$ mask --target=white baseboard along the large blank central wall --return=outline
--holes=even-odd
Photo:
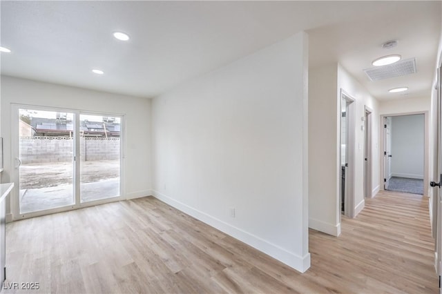
[[[182,202],[178,202],[175,199],[172,199],[171,197],[168,197],[160,192],[153,190],[153,196],[157,199],[160,199],[162,202],[169,204],[170,206],[173,206],[178,210],[181,210],[182,212],[195,217],[196,219],[199,219],[201,222],[209,224],[209,226],[213,226],[223,233],[226,233],[227,235],[230,235],[252,246],[253,248],[258,249],[259,251],[262,251],[263,253],[270,255],[275,259],[278,259],[280,262],[283,262],[288,266],[296,269],[296,271],[304,273],[310,267],[310,253],[307,253],[305,256],[301,257],[285,250],[284,248],[280,248],[275,244],[271,244],[265,239],[243,231],[240,228],[236,228],[231,224],[227,224],[220,219],[203,213],[202,211],[192,208],[191,206],[188,206]]]

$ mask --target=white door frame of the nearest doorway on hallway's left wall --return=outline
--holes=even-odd
[[[355,179],[355,162],[354,159],[356,158],[356,99],[352,97],[352,95],[349,95],[345,90],[342,88],[340,89],[340,99],[339,99],[339,142],[338,142],[338,150],[339,150],[339,164],[338,164],[338,170],[337,174],[339,175],[339,212],[341,211],[340,205],[342,203],[342,185],[341,185],[341,139],[342,139],[342,126],[341,126],[341,111],[342,111],[342,101],[345,99],[347,102],[349,102],[348,105],[348,113],[346,113],[346,123],[347,123],[347,146],[345,146],[345,152],[347,156],[347,170],[345,171],[345,203],[344,203],[344,215],[346,217],[353,218],[355,215],[354,211],[354,193],[355,193],[355,186],[354,186],[354,179]],[[339,217],[342,215],[342,213],[339,213]],[[339,219],[340,222],[340,219]]]

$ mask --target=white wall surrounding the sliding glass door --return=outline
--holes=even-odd
[[[29,104],[109,112],[126,116],[126,197],[151,195],[151,100],[1,76],[1,135],[5,170],[10,181],[11,104]],[[17,187],[11,193],[17,197]],[[10,206],[9,203],[7,203]],[[7,208],[8,213],[10,207]]]

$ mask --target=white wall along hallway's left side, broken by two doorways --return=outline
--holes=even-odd
[[[355,202],[357,215],[364,207],[364,132],[361,129],[367,106],[372,112],[372,190],[378,182],[378,101],[337,63],[309,69],[309,226],[340,234],[340,90],[355,99]]]

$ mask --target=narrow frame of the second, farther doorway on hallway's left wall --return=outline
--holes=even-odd
[[[373,170],[372,170],[372,108],[364,106],[364,197],[373,196]],[[367,160],[365,160],[367,159]]]

